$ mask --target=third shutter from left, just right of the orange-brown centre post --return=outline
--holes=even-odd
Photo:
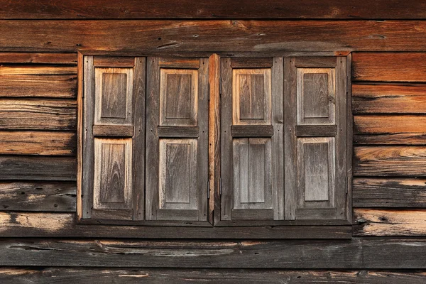
[[[224,58],[221,74],[221,219],[283,219],[283,58]]]

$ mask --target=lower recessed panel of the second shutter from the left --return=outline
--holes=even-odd
[[[160,140],[159,209],[197,209],[197,139]]]

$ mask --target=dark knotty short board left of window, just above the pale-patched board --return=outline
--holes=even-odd
[[[0,210],[75,212],[76,190],[75,182],[0,182]]]

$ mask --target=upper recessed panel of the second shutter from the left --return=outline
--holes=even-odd
[[[198,70],[161,69],[160,126],[196,126]]]

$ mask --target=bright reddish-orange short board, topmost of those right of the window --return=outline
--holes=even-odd
[[[425,60],[424,53],[354,53],[352,80],[426,82]]]

